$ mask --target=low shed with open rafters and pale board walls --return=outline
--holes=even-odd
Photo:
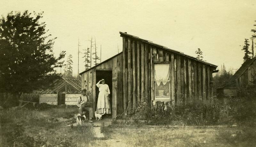
[[[60,78],[41,92],[39,103],[76,105],[81,96],[81,83],[77,79]]]

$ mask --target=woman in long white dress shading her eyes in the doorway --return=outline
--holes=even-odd
[[[100,91],[98,96],[96,112],[98,114],[103,114],[106,111],[105,114],[111,114],[110,102],[109,102],[110,90],[108,88],[108,85],[105,84],[104,79],[102,79],[96,84],[96,86],[99,88],[99,91]]]

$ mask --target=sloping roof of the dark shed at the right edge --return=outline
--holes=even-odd
[[[224,85],[221,85],[217,89],[224,88],[230,84],[233,84],[236,82],[236,79],[240,78],[242,74],[248,69],[248,67],[253,63],[253,61],[256,59],[256,57],[252,58],[251,60],[246,60],[242,66],[236,71],[236,73],[228,80],[228,82]]]

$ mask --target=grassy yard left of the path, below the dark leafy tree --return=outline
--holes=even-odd
[[[86,146],[95,140],[91,125],[67,127],[71,122],[54,121],[63,117],[75,122],[76,106],[37,108],[0,110],[0,146]]]

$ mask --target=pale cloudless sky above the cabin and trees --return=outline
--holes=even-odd
[[[251,29],[256,28],[255,0],[0,0],[0,3],[0,15],[4,17],[11,11],[44,11],[41,21],[57,37],[54,55],[58,56],[60,51],[66,51],[66,56],[71,54],[74,75],[78,73],[78,39],[80,51],[91,46],[88,41],[91,37],[95,39],[98,53],[101,45],[101,61],[104,61],[122,51],[119,31],[194,57],[200,48],[207,62],[219,67],[224,63],[226,68],[235,70],[243,63],[244,39],[249,39]],[[79,73],[85,69],[81,57],[80,53]]]

